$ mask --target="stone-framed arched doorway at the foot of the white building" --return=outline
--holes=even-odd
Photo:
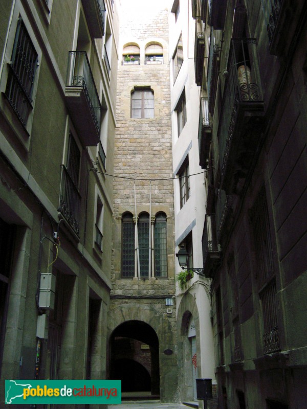
[[[198,355],[201,351],[200,345],[200,316],[194,297],[185,293],[178,308],[177,334],[178,334],[178,368],[179,368],[179,387],[181,400],[193,400],[193,385],[191,383],[192,372],[189,366],[190,342],[188,339],[188,324],[193,317],[196,327],[196,350]],[[198,376],[202,373],[201,359],[198,358]],[[190,373],[191,372],[191,373]]]

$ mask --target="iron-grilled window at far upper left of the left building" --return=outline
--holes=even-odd
[[[38,66],[38,54],[19,16],[14,40],[5,95],[26,127],[33,109],[33,88]]]

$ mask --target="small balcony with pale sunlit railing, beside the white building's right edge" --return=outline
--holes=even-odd
[[[211,118],[209,117],[208,98],[201,98],[200,120],[199,120],[199,151],[200,166],[202,169],[207,168],[209,150],[211,143]]]

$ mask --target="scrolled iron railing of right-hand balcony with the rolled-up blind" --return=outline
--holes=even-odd
[[[257,79],[256,39],[233,38],[229,53],[228,67],[221,106],[221,121],[218,125],[221,173],[225,172],[229,150],[236,126],[240,106],[246,109],[263,101]]]

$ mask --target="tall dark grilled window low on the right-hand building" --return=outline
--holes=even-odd
[[[276,307],[276,282],[269,212],[265,188],[262,188],[251,210],[253,241],[259,299],[262,309],[264,353],[279,350]]]

